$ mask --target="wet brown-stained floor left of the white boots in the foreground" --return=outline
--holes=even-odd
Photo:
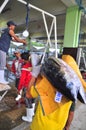
[[[11,130],[20,125],[23,122],[21,117],[25,114],[25,104],[16,103],[17,90],[10,86],[11,90],[0,101],[0,130]]]

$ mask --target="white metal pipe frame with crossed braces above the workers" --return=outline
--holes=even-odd
[[[19,2],[21,2],[23,4],[25,4],[25,5],[27,4],[27,2],[24,1],[24,0],[17,0],[17,1],[19,1]],[[52,15],[52,14],[44,11],[44,10],[42,10],[42,9],[40,9],[40,8],[32,5],[32,4],[28,4],[28,6],[30,8],[33,8],[33,9],[35,9],[35,10],[37,10],[37,11],[39,11],[39,12],[42,13],[42,17],[43,17],[43,21],[44,21],[44,26],[45,26],[45,30],[46,30],[46,34],[47,34],[47,44],[46,44],[46,48],[45,48],[45,52],[44,52],[44,56],[43,57],[45,57],[45,54],[46,54],[46,51],[47,51],[47,46],[49,45],[51,47],[51,39],[50,39],[50,37],[51,37],[51,33],[52,33],[53,29],[54,29],[54,40],[55,40],[55,57],[57,57],[57,27],[56,27],[56,17],[54,15]],[[46,15],[52,18],[52,24],[51,24],[50,30],[49,30],[48,25],[47,25],[47,21],[46,21],[46,17],[45,17]]]

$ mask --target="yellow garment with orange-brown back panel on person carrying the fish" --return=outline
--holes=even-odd
[[[35,89],[31,88],[31,95],[36,97],[38,94],[40,98],[31,130],[63,130],[72,102],[63,96],[61,103],[56,103],[55,93],[55,88],[45,77],[36,84]]]

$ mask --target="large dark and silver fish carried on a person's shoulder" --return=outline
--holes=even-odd
[[[72,100],[77,98],[86,103],[82,83],[75,71],[59,58],[48,58],[42,66],[42,72],[50,83],[63,95]]]

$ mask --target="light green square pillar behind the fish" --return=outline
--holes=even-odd
[[[81,10],[79,10],[78,6],[67,9],[63,47],[78,47],[80,20]]]

